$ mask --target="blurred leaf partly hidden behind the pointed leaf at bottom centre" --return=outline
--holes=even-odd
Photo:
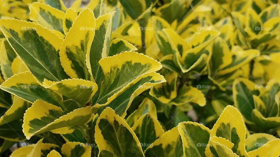
[[[127,117],[127,124],[132,127],[135,124],[135,122],[146,113],[149,113],[151,116],[157,119],[157,110],[155,104],[148,98],[145,98],[139,105],[137,110],[135,110]]]

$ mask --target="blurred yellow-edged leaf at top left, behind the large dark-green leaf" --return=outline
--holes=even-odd
[[[65,13],[43,3],[32,3],[29,6],[30,19],[46,28],[63,33],[63,18]]]

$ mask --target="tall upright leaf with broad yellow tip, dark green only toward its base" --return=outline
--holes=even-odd
[[[91,21],[91,22],[88,22]],[[84,9],[73,23],[60,47],[60,62],[72,79],[90,80],[85,63],[90,42],[95,34],[95,17],[90,9]]]

